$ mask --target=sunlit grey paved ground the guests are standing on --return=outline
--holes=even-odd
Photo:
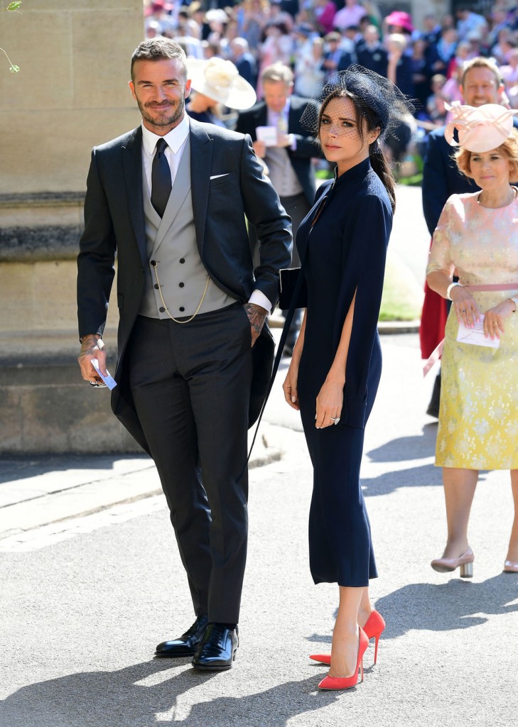
[[[426,237],[418,245],[426,258]],[[445,539],[436,424],[423,413],[432,380],[421,377],[417,334],[382,344],[362,484],[380,573],[371,595],[387,630],[376,667],[367,652],[364,683],[319,693],[325,669],[307,658],[330,646],[337,593],[308,572],[311,467],[298,414],[282,401],[283,366],[250,475],[242,644],[231,672],[152,659],[155,644],[193,617],[148,459],[0,460],[0,727],[516,723],[518,576],[501,574],[509,475],[482,475],[474,578],[432,571]]]

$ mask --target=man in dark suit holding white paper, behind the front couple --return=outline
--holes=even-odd
[[[264,69],[261,75],[264,100],[239,113],[236,130],[250,134],[255,153],[263,158],[268,175],[274,185],[281,204],[292,218],[293,238],[298,225],[306,217],[314,201],[316,185],[311,158],[321,156],[314,137],[300,124],[307,98],[292,95],[293,73],[282,63],[274,63]],[[266,145],[258,138],[259,126],[276,127],[276,144]],[[252,250],[257,248],[257,235],[250,228]],[[256,254],[256,253],[255,253]],[[292,264],[300,265],[294,249]],[[284,352],[291,356],[297,337],[298,321],[290,328]]]

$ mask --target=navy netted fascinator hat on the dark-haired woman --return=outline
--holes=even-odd
[[[345,94],[343,93],[345,92]],[[373,117],[374,125],[380,129],[378,141],[383,142],[387,134],[402,124],[405,116],[415,112],[415,105],[399,88],[362,65],[350,65],[346,71],[339,71],[333,81],[325,82],[306,106],[300,123],[314,136],[319,134],[319,115],[326,100],[347,95],[367,116]]]

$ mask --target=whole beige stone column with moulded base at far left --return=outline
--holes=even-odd
[[[140,121],[127,81],[143,1],[31,0],[22,12],[0,16],[20,66],[0,59],[0,452],[136,451],[108,392],[79,375],[75,258],[92,146]]]

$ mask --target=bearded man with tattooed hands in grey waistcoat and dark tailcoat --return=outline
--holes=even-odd
[[[132,56],[141,126],[97,147],[78,257],[83,378],[105,372],[102,335],[117,254],[119,362],[112,408],[153,457],[196,621],[157,656],[232,666],[247,548],[247,425],[271,371],[264,325],[290,261],[290,220],[249,138],[188,119],[181,47]],[[252,267],[245,216],[258,230]]]

